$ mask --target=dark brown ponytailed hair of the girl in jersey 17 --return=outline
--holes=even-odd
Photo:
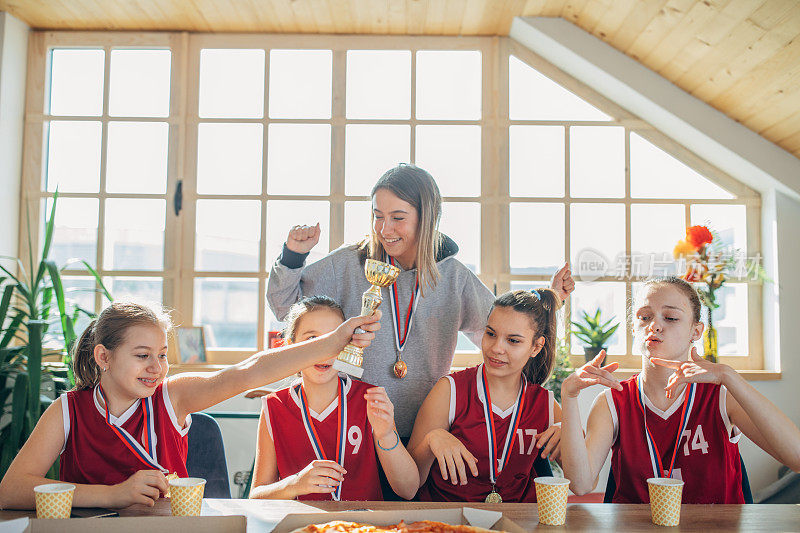
[[[536,357],[529,358],[522,368],[525,379],[537,385],[543,384],[553,372],[556,362],[556,311],[561,307],[561,299],[552,289],[516,290],[498,296],[489,311],[490,315],[496,307],[509,307],[530,318],[536,331],[534,343],[539,337],[544,337],[542,349]]]

